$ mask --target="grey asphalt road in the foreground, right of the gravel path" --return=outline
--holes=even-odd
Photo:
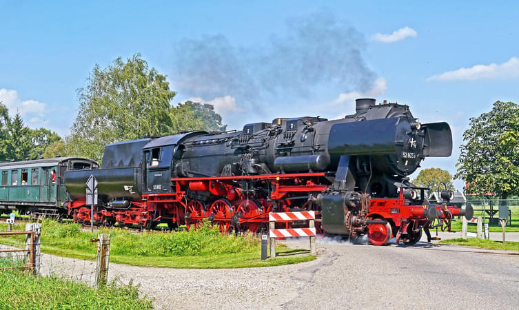
[[[431,245],[318,246],[320,264],[290,277],[303,283],[282,308],[517,309],[519,256]],[[305,298],[306,296],[306,298]],[[314,296],[316,298],[307,298]]]

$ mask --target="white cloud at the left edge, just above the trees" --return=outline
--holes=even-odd
[[[20,113],[23,118],[30,117],[29,123],[40,123],[40,118],[45,116],[45,103],[35,100],[23,101],[16,90],[0,88],[0,101],[8,107],[10,114]]]

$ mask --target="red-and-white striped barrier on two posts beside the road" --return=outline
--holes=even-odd
[[[315,219],[315,211],[269,213],[270,258],[276,257],[276,238],[289,237],[309,237],[310,252],[313,255],[316,255],[317,249]],[[276,222],[287,223],[294,220],[308,220],[308,227],[276,229]]]

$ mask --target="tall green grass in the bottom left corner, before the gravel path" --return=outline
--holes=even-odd
[[[17,265],[0,260],[1,267]],[[0,271],[1,309],[153,309],[152,300],[139,298],[138,287],[115,285],[95,290],[56,276],[35,277],[28,271]]]

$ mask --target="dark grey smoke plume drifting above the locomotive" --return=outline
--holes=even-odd
[[[365,63],[365,38],[332,12],[286,21],[283,34],[236,47],[223,35],[181,39],[174,50],[172,87],[184,96],[232,96],[239,107],[261,107],[320,96],[319,90],[366,92],[376,74]]]

